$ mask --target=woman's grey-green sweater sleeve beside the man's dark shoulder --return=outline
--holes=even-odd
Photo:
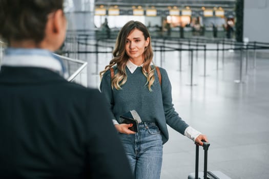
[[[115,120],[116,117],[112,112],[113,107],[114,107],[114,98],[113,98],[113,90],[111,88],[110,70],[108,70],[102,77],[102,80],[100,83],[100,91],[101,91],[101,94],[105,96],[107,100],[107,105],[110,107],[112,120]]]

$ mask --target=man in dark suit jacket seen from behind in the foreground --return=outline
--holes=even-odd
[[[97,89],[68,82],[53,56],[63,0],[0,0],[0,178],[132,178]]]

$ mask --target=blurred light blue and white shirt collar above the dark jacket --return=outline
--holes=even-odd
[[[2,61],[3,66],[30,66],[46,68],[68,77],[64,62],[52,52],[44,49],[8,48]]]

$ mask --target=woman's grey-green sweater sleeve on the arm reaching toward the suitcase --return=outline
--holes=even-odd
[[[162,92],[162,103],[163,110],[165,115],[166,123],[184,135],[185,129],[189,126],[185,121],[183,121],[178,113],[175,111],[174,104],[172,103],[172,86],[167,74],[167,71],[160,68],[162,83],[161,83],[161,92]]]

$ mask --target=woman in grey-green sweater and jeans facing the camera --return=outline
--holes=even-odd
[[[153,51],[146,26],[133,20],[123,26],[113,55],[110,64],[100,72],[100,90],[110,103],[114,125],[135,177],[159,178],[162,145],[168,141],[167,124],[199,145],[208,140],[176,113],[168,74],[162,68],[160,84],[152,65]],[[130,110],[135,110],[142,120],[138,132],[129,129],[132,124],[119,124],[119,116]]]

